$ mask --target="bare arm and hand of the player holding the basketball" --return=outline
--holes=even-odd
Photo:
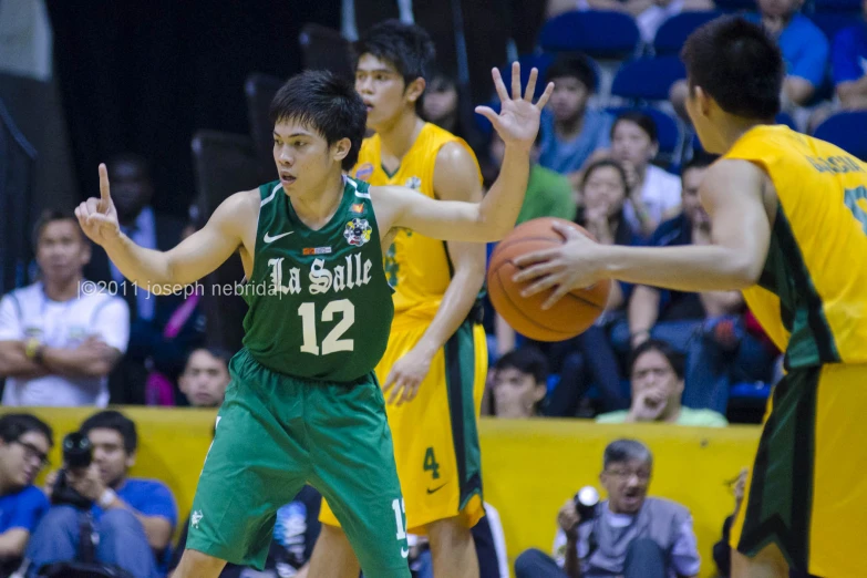
[[[708,246],[622,247],[599,245],[558,227],[567,242],[516,259],[517,281],[535,280],[533,295],[557,287],[548,303],[602,278],[679,291],[735,291],[758,280],[771,242],[763,203],[765,174],[745,161],[720,161],[708,171],[700,197],[711,216]]]

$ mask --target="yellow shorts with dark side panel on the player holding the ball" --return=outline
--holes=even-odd
[[[768,404],[731,546],[773,544],[823,578],[867,576],[867,365],[793,370]]]

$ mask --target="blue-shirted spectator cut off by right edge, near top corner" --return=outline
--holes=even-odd
[[[834,39],[832,66],[843,109],[867,110],[867,0],[864,20],[840,30]]]

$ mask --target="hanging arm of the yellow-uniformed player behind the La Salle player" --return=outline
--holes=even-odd
[[[458,143],[448,143],[436,155],[434,192],[440,199],[478,203],[482,184],[473,156]],[[394,390],[389,403],[411,401],[430,371],[431,360],[461,323],[485,282],[485,245],[447,242],[454,272],[431,324],[415,347],[399,360],[389,373],[383,392]]]

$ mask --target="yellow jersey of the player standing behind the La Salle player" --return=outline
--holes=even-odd
[[[395,173],[389,174],[382,166],[381,141],[376,134],[362,142],[358,163],[350,171],[350,176],[372,186],[410,187],[434,198],[436,155],[446,143],[461,144],[476,161],[473,149],[462,138],[425,123]],[[478,161],[476,169],[481,183]],[[445,242],[402,229],[396,233],[383,260],[389,283],[394,289],[395,322],[427,322],[433,319],[452,280],[452,261]]]

